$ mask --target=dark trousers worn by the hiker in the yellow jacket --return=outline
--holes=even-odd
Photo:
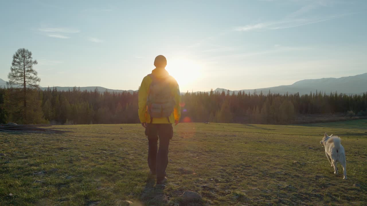
[[[148,136],[148,165],[156,172],[157,180],[166,176],[168,164],[168,145],[173,136],[172,124],[148,124],[145,129]],[[159,140],[159,149],[157,143]]]

